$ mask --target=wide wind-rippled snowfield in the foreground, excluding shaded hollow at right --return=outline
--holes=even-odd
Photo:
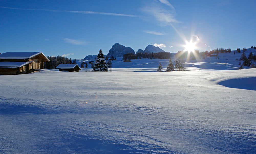
[[[218,84],[255,74],[2,75],[0,153],[255,153],[255,91]]]

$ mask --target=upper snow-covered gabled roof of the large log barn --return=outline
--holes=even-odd
[[[39,54],[42,54],[45,59],[50,61],[42,52],[6,52],[0,54],[0,59],[30,59]]]

